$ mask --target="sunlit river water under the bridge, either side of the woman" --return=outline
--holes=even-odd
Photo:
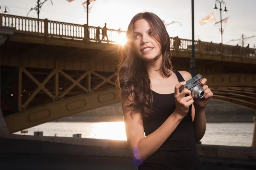
[[[126,140],[124,122],[47,122],[31,127],[25,135],[43,131],[44,136],[72,137],[80,133],[82,138]],[[14,134],[21,134],[20,131]],[[23,134],[22,134],[23,135]],[[207,123],[202,144],[250,146],[253,123]]]

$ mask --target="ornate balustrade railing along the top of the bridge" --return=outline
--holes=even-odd
[[[17,33],[45,37],[68,38],[91,42],[119,43],[126,41],[126,31],[93,27],[73,23],[63,23],[48,19],[36,19],[9,14],[0,14],[0,26],[15,27]],[[170,37],[170,49],[175,52],[191,52],[192,40]],[[256,59],[256,49],[240,46],[195,41],[195,52],[210,55],[224,55]]]

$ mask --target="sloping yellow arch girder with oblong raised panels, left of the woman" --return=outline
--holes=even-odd
[[[117,88],[109,88],[20,111],[6,116],[5,121],[9,132],[14,133],[65,116],[118,102],[120,102],[119,91]]]

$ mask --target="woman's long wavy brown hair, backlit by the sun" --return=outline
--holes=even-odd
[[[151,12],[139,13],[135,15],[126,33],[127,43],[119,51],[119,63],[117,71],[116,85],[121,90],[120,98],[128,97],[131,102],[125,108],[134,107],[132,111],[140,112],[143,117],[152,113],[153,96],[151,94],[151,82],[144,61],[137,57],[132,50],[133,27],[137,20],[145,19],[154,30],[154,38],[161,44],[160,53],[154,58],[159,59],[162,55],[162,69],[165,77],[171,76],[172,70],[170,54],[170,37],[166,31],[163,21]],[[132,97],[133,101],[129,98]],[[131,112],[132,112],[131,111]]]

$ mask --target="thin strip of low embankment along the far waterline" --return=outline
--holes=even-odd
[[[88,116],[88,117],[66,117],[61,118],[52,122],[123,122],[122,116]],[[207,117],[207,123],[228,123],[228,122],[239,122],[239,123],[253,123],[253,117],[234,117],[234,116],[220,116],[220,117]]]

